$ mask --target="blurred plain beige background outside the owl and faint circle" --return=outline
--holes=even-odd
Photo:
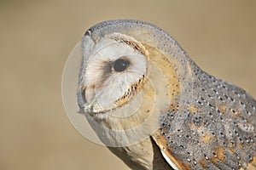
[[[102,20],[154,23],[203,70],[256,96],[255,8],[253,0],[1,0],[0,169],[128,169],[72,127],[61,100],[68,54]]]

